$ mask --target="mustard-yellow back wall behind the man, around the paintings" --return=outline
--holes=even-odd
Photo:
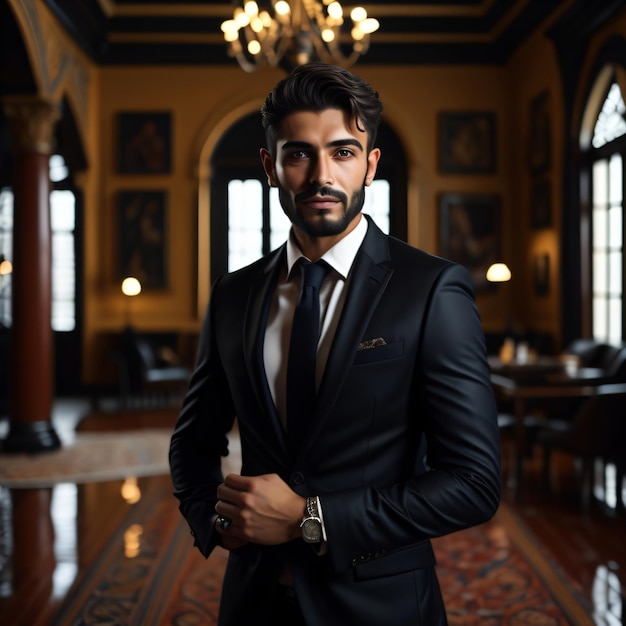
[[[34,4],[45,14],[41,2]],[[624,32],[624,20],[611,24],[596,40],[620,27]],[[441,193],[501,196],[502,257],[511,266],[513,280],[494,293],[478,297],[485,329],[494,332],[502,331],[513,320],[527,330],[558,336],[561,320],[559,150],[565,129],[560,113],[562,94],[556,55],[552,43],[542,34],[550,23],[549,20],[543,24],[506,67],[357,65],[353,68],[379,91],[386,121],[404,143],[408,157],[410,243],[438,253]],[[103,337],[115,334],[126,323],[128,305],[117,282],[116,194],[123,190],[163,189],[169,197],[166,245],[169,286],[162,292],[146,292],[133,300],[133,324],[143,330],[196,332],[209,295],[207,180],[211,152],[231,124],[259,109],[283,73],[269,69],[247,74],[236,66],[95,67],[75,51],[60,31],[54,32],[54,25],[46,27],[52,29],[53,39],[63,42],[70,56],[80,60],[88,83],[88,100],[81,117],[85,124],[81,130],[90,169],[79,181],[85,192],[84,381],[105,382],[114,376],[114,371],[107,364],[109,353]],[[36,57],[33,62],[37,62]],[[550,97],[552,161],[547,174],[552,183],[553,225],[531,230],[532,177],[527,165],[529,109],[531,100],[543,90],[548,90]],[[171,111],[173,117],[171,173],[141,176],[117,173],[117,113],[162,110]],[[495,174],[438,172],[437,116],[442,110],[496,114]],[[551,288],[546,296],[536,295],[533,289],[533,260],[539,253],[548,253],[551,262]],[[202,281],[199,291],[198,276]]]

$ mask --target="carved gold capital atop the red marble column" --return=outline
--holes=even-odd
[[[36,96],[5,96],[0,104],[17,154],[52,154],[54,128],[61,118],[57,105]]]

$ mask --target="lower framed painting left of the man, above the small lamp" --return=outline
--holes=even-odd
[[[120,191],[119,279],[134,276],[142,289],[164,289],[166,273],[165,191]]]

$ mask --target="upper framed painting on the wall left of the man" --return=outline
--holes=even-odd
[[[171,126],[170,113],[120,113],[118,172],[168,174],[171,170]]]

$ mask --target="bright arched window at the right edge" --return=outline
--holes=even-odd
[[[626,105],[610,81],[593,128],[587,157],[591,171],[591,331],[595,339],[624,340],[624,182]]]

